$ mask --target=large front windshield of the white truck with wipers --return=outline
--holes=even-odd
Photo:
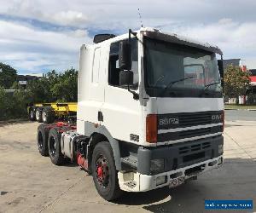
[[[149,95],[221,95],[216,55],[176,43],[145,38],[145,76]]]

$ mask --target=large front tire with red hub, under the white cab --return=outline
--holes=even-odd
[[[96,190],[103,199],[110,201],[121,196],[112,148],[107,141],[96,145],[92,153],[91,171]]]

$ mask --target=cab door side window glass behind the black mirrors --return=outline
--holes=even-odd
[[[131,71],[133,72],[133,89],[138,86],[138,62],[137,62],[137,40],[131,39]],[[119,42],[111,43],[108,65],[108,83],[109,85],[119,87]]]

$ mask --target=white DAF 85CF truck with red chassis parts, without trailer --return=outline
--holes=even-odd
[[[82,45],[76,124],[38,126],[53,164],[77,162],[106,200],[177,187],[223,164],[222,51],[141,28]]]

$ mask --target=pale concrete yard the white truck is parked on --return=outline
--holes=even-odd
[[[171,190],[125,193],[115,203],[103,200],[92,177],[76,164],[55,166],[40,156],[37,127],[0,124],[0,212],[198,213],[207,212],[205,199],[253,199],[256,204],[256,122],[226,122],[219,170]]]

